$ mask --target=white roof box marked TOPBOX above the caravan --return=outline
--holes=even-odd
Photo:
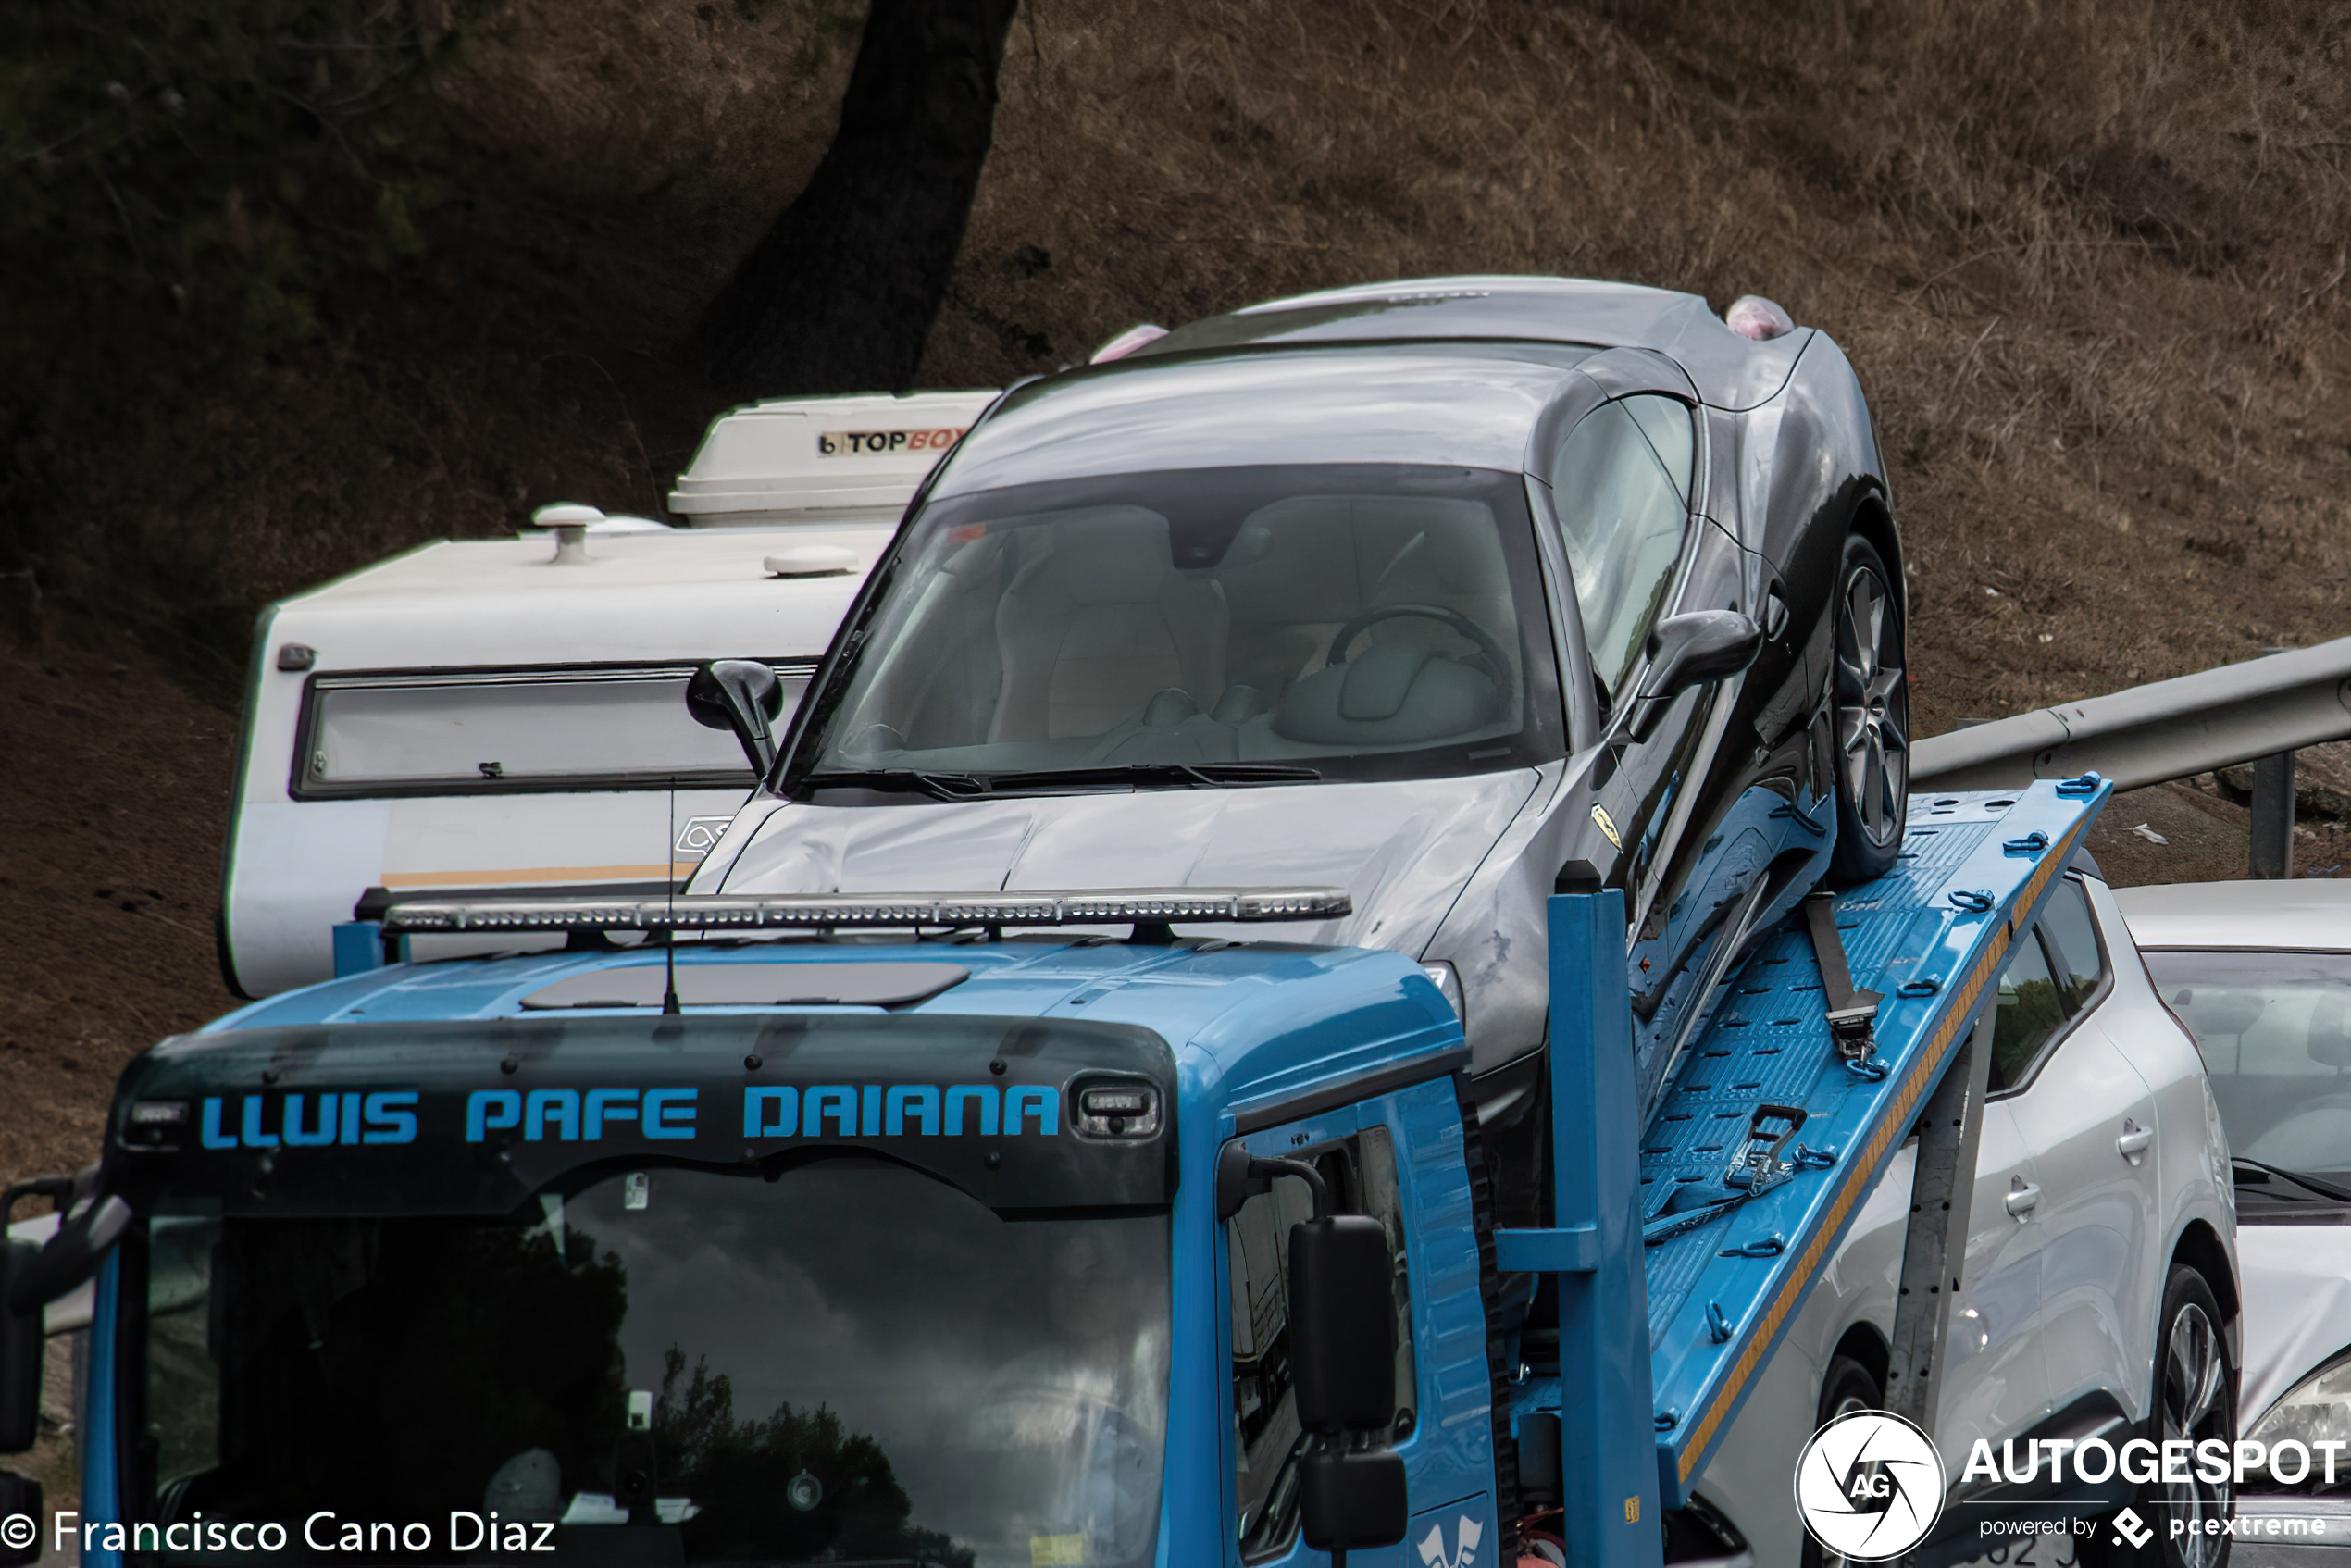
[[[790,397],[722,414],[670,510],[679,522],[898,522],[994,393]]]

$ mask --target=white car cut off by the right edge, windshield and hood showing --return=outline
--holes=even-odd
[[[2203,1044],[2236,1152],[2245,1436],[2351,1439],[2351,882],[2118,900],[2163,1001]],[[2335,1486],[2271,1476],[2259,1490],[2255,1512],[2351,1512],[2351,1465]]]

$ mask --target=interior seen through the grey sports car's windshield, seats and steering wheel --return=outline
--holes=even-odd
[[[877,630],[825,766],[1197,764],[1512,736],[1542,618],[1505,527],[1523,531],[1472,498],[1307,491],[1223,529],[1145,505],[945,529]]]

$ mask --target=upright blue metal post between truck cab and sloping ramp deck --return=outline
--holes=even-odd
[[[1641,1105],[1625,992],[1625,893],[1552,898],[1554,1225],[1592,1227],[1559,1274],[1561,1530],[1578,1568],[1657,1568],[1657,1434],[1641,1262]]]

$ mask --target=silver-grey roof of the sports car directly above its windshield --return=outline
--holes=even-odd
[[[1037,480],[1260,463],[1519,473],[1589,350],[1408,343],[1119,360],[1016,388],[938,470],[938,496]]]

